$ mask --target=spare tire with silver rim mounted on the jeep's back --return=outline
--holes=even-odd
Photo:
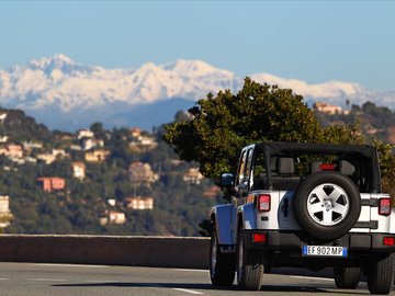
[[[313,238],[337,239],[358,221],[361,197],[350,178],[321,171],[300,184],[293,198],[293,210],[301,228]]]

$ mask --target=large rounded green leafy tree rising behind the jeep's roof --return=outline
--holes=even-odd
[[[323,128],[311,109],[290,89],[245,79],[233,94],[208,94],[189,110],[191,119],[166,126],[163,139],[182,160],[199,161],[201,172],[215,179],[235,171],[240,148],[256,141],[320,141]]]

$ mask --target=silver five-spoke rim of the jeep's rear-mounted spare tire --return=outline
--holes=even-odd
[[[349,209],[350,198],[337,184],[319,184],[308,194],[307,212],[318,225],[337,225],[345,220]]]

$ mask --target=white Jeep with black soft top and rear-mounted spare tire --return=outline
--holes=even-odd
[[[269,143],[242,149],[230,204],[211,210],[210,274],[258,291],[271,267],[334,269],[339,288],[365,274],[372,294],[388,294],[395,272],[395,213],[382,193],[372,146]]]

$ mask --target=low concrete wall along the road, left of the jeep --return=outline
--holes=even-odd
[[[208,249],[207,238],[0,235],[1,262],[207,269]]]

